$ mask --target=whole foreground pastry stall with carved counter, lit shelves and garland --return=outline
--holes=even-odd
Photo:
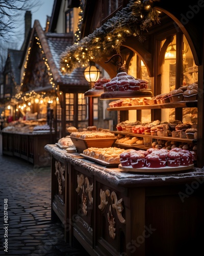
[[[52,158],[52,219],[63,223],[67,242],[78,240],[91,255],[198,254],[203,4],[80,3],[79,40],[61,54],[61,71],[90,61],[103,67],[110,81],[99,98],[117,122],[113,130],[93,125],[72,132],[77,152],[45,146]]]

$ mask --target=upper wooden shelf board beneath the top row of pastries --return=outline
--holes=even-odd
[[[108,108],[108,111],[124,111],[124,110],[149,110],[149,109],[174,109],[174,108],[196,108],[197,100],[169,102],[154,105],[136,105],[136,106],[116,106]]]

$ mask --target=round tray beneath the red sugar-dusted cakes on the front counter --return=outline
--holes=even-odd
[[[171,167],[171,166],[165,166],[162,168],[149,168],[149,167],[142,167],[142,168],[133,168],[122,166],[121,164],[118,165],[118,168],[121,170],[125,170],[126,172],[134,172],[134,173],[150,173],[150,174],[157,174],[157,173],[176,173],[176,172],[182,172],[182,170],[190,170],[193,169],[194,164],[190,164],[187,166],[177,166],[177,167]]]

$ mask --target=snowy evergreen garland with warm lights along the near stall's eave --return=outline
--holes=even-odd
[[[89,61],[96,61],[113,50],[120,54],[127,36],[135,36],[143,42],[146,38],[142,32],[159,22],[159,12],[151,8],[148,1],[131,0],[92,34],[67,47],[60,56],[61,72],[71,73],[76,68],[88,66]]]

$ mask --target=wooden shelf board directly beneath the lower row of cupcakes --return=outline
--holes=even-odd
[[[158,139],[158,140],[170,140],[170,141],[179,141],[185,143],[196,143],[194,139],[186,139],[186,138],[177,138],[177,137],[166,137],[166,136],[158,136],[158,135],[147,135],[147,134],[139,134],[139,133],[126,133],[126,132],[119,132],[119,131],[111,131],[114,134],[122,134],[122,135],[129,135],[135,137],[143,137],[143,138],[151,138],[151,139]],[[139,144],[138,144],[139,147]]]

